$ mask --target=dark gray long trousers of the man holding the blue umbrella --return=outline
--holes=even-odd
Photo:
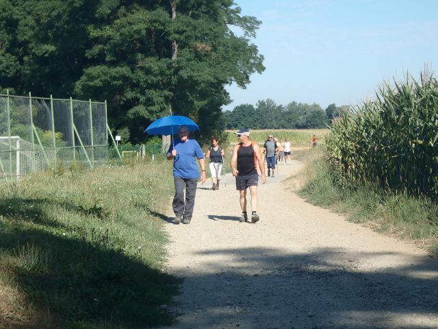
[[[192,219],[194,197],[196,195],[196,186],[198,185],[198,179],[173,176],[173,182],[175,183],[175,196],[173,197],[172,202],[173,212],[175,213],[175,215],[183,215],[183,218],[185,219]]]

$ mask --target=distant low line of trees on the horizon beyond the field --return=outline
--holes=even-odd
[[[350,106],[336,106],[335,103],[322,110],[316,103],[297,103],[287,106],[276,104],[272,99],[258,101],[255,106],[242,104],[232,111],[224,112],[225,127],[237,129],[313,129],[324,128],[341,112],[349,112]]]

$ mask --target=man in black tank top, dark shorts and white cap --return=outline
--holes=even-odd
[[[259,175],[257,173],[257,163],[261,172],[261,182],[266,183],[265,166],[261,157],[260,147],[249,139],[249,130],[241,128],[235,132],[239,143],[233,149],[231,157],[231,171],[235,176],[235,186],[240,193],[240,208],[242,208],[242,217],[240,222],[248,221],[246,212],[246,188],[249,188],[251,194],[251,223],[259,221],[257,215],[257,185],[259,184]],[[237,166],[237,167],[236,167]]]

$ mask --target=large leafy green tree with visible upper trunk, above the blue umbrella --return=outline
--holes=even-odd
[[[77,92],[96,95],[110,86],[117,96],[110,112],[126,109],[113,117],[129,127],[131,140],[143,138],[150,121],[172,110],[196,121],[207,141],[223,127],[220,108],[230,101],[224,86],[244,87],[250,74],[264,69],[250,43],[259,21],[240,16],[233,1],[142,2],[115,6],[105,12],[112,19],[90,29],[94,47],[87,54],[98,63],[85,70]]]

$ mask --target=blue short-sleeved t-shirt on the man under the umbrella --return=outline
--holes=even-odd
[[[167,153],[172,153],[172,149],[177,150],[177,156],[173,158],[173,175],[181,178],[199,178],[196,158],[203,159],[204,152],[194,139],[188,139],[181,143],[175,139],[174,145],[170,145]]]

